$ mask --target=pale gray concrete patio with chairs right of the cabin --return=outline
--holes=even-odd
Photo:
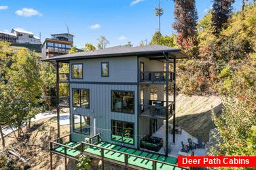
[[[162,127],[160,127],[160,129],[158,131],[153,133],[153,136],[161,137],[164,140],[164,146],[165,146],[165,141],[166,141],[165,140],[166,139],[165,134],[166,134],[166,125],[164,123],[164,125]],[[172,144],[172,150],[168,154],[168,156],[175,157],[175,158],[177,158],[177,156],[179,155],[179,152],[181,151],[181,148],[182,148],[181,141],[183,141],[183,144],[187,144],[187,138],[191,138],[192,142],[195,142],[195,143],[198,142],[196,137],[190,135],[189,133],[187,133],[183,129],[182,129],[181,134],[175,134],[175,144],[172,143],[172,134],[170,132],[169,132],[169,137],[168,138],[169,138],[168,142],[170,144]],[[187,155],[191,155],[192,151],[194,151],[195,155],[197,155],[197,156],[206,155],[206,148],[196,148],[194,150],[189,150]],[[162,147],[159,150],[159,153],[164,154],[164,147]]]

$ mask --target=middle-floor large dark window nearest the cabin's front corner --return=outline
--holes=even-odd
[[[111,91],[111,102],[113,112],[134,113],[133,91]]]

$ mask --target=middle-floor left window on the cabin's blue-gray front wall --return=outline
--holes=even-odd
[[[89,89],[73,89],[73,107],[90,108]]]

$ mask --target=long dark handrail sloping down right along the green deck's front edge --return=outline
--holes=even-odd
[[[136,158],[142,158],[142,159],[145,159],[147,161],[152,161],[153,164],[154,164],[154,162],[156,162],[156,163],[162,163],[162,164],[165,164],[165,165],[170,165],[170,166],[178,167],[178,165],[174,165],[174,164],[171,164],[171,163],[165,163],[165,162],[158,161],[158,160],[155,160],[155,159],[145,158],[143,156],[137,156],[137,155],[134,155],[134,154],[128,154],[128,153],[125,153],[125,152],[120,152],[118,150],[112,150],[112,149],[109,149],[109,148],[104,148],[104,147],[101,147],[101,146],[96,146],[94,144],[89,144],[89,143],[86,143],[86,142],[81,142],[81,144],[92,146],[92,147],[96,147],[96,148],[100,148],[103,151],[104,150],[109,150],[109,151],[112,151],[112,152],[117,152],[117,153],[120,153],[120,154],[124,154],[125,156],[134,156]],[[86,151],[83,150],[83,152],[86,152]],[[103,155],[104,155],[104,152],[103,152]],[[125,157],[125,159],[126,159],[126,157]],[[120,162],[120,161],[118,161],[118,162]],[[183,169],[187,169],[187,168],[184,167]]]

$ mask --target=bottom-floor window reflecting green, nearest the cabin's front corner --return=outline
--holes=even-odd
[[[111,139],[125,144],[134,144],[134,123],[111,120]]]

